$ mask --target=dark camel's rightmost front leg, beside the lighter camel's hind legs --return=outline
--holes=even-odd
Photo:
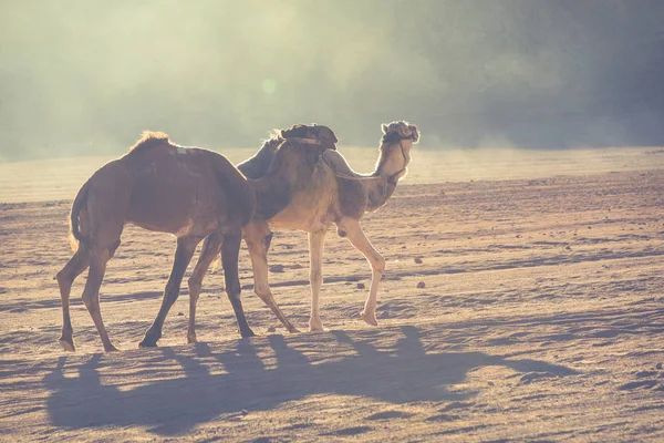
[[[226,295],[230,300],[232,310],[235,311],[236,319],[238,321],[238,328],[240,329],[240,336],[253,337],[256,336],[247,318],[245,317],[245,309],[242,308],[242,300],[240,298],[240,278],[238,275],[238,256],[240,254],[240,243],[242,241],[242,234],[227,234],[224,236],[224,243],[221,244],[221,266],[224,266],[224,279],[226,282]]]

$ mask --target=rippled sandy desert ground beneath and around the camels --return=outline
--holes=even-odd
[[[259,337],[238,338],[216,270],[200,343],[185,344],[185,285],[160,348],[136,349],[175,241],[127,227],[102,286],[123,349],[112,354],[81,302],[84,277],[79,351],[60,350],[52,279],[70,257],[69,199],[100,159],[0,164],[0,440],[664,441],[664,151],[485,154],[414,153],[366,216],[387,259],[378,328],[357,317],[369,266],[330,233],[329,332],[283,336],[242,248]],[[305,235],[272,245],[274,296],[305,329]]]

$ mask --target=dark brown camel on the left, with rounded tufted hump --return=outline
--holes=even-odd
[[[311,132],[315,133],[317,140],[282,136],[281,148],[276,152],[272,162],[274,171],[268,171],[259,181],[247,181],[218,153],[179,146],[172,143],[168,135],[154,132],[144,133],[127,154],[102,166],[74,198],[70,213],[70,240],[74,255],[55,277],[62,298],[60,343],[63,349],[75,351],[69,298],[74,279],[90,268],[83,301],[104,350],[117,350],[108,339],[102,320],[98,290],[106,262],[120,246],[123,228],[128,223],[148,230],[169,233],[177,238],[162,307],[139,346],[156,346],[196,246],[208,237],[216,239],[215,251],[221,254],[226,292],[240,334],[253,336],[240,300],[238,254],[241,228],[252,218],[269,219],[288,205],[290,193],[282,174],[291,172],[288,165],[293,158],[314,162],[320,152],[311,150],[308,144],[314,143],[323,150],[319,140],[325,136],[319,133],[325,131],[331,133],[324,126],[313,128]],[[257,202],[260,203],[258,210]],[[209,247],[208,244],[206,248]],[[279,318],[283,318],[273,299],[263,300]],[[288,322],[286,318],[282,321]]]

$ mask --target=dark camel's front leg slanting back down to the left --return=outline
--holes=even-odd
[[[196,246],[199,241],[200,239],[196,237],[181,237],[177,239],[175,260],[173,261],[173,269],[170,270],[170,276],[168,277],[168,282],[166,284],[166,289],[164,290],[162,307],[159,308],[159,312],[157,313],[155,321],[145,332],[143,341],[138,343],[141,348],[156,347],[157,341],[162,338],[162,327],[164,326],[164,320],[166,320],[166,316],[168,315],[170,307],[173,303],[175,303],[175,300],[177,300],[177,297],[179,296],[183,277],[185,276],[187,266],[189,266],[189,261],[191,261],[191,257],[194,256]]]

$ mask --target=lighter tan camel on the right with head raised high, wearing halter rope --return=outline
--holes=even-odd
[[[242,228],[245,240],[249,247],[253,267],[256,293],[264,299],[272,299],[268,284],[267,253],[270,247],[270,226],[276,228],[299,229],[309,234],[310,281],[311,281],[311,331],[321,331],[323,326],[319,315],[319,295],[322,286],[322,253],[323,240],[328,228],[334,224],[338,233],[346,237],[361,251],[372,268],[372,282],[369,298],[361,318],[370,324],[377,326],[375,319],[378,284],[385,270],[385,259],[373,247],[360,227],[360,219],[366,212],[374,212],[392,196],[401,178],[406,175],[411,161],[411,148],[417,143],[417,127],[406,122],[393,122],[383,125],[380,156],[376,169],[372,174],[357,174],[350,168],[343,156],[334,150],[324,150],[320,161],[313,166],[291,164],[288,177],[290,197],[288,206],[267,220],[253,218]],[[273,168],[271,157],[274,155],[272,140],[263,144],[252,158],[238,165],[238,168],[250,178],[259,178]],[[258,203],[260,208],[261,203]],[[190,312],[196,310],[196,301],[203,277],[218,254],[215,236],[206,239],[196,269],[194,270],[196,297],[190,299]],[[193,276],[193,278],[194,278]],[[195,316],[189,317],[189,342],[196,341]],[[280,320],[289,331],[294,328],[290,322]]]

